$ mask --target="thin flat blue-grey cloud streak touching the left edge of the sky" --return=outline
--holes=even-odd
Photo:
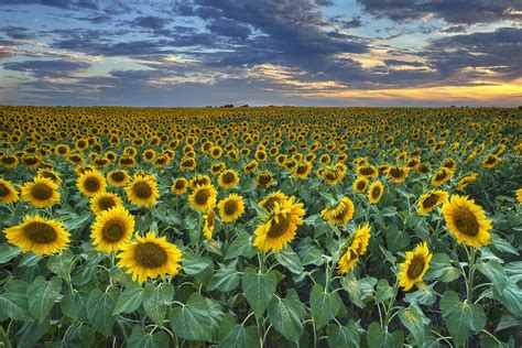
[[[68,76],[70,73],[86,69],[90,65],[83,62],[55,59],[10,62],[2,64],[2,66],[7,70],[28,73],[34,77],[42,78]]]

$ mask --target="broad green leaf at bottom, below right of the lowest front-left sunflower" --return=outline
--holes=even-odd
[[[213,338],[208,307],[199,293],[192,294],[188,302],[172,309],[171,327],[184,339],[210,341]]]

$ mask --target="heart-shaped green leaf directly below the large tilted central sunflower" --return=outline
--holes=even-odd
[[[252,268],[247,268],[243,271],[241,282],[244,297],[252,307],[255,317],[261,318],[275,293],[275,286],[278,285],[275,273],[262,274],[255,272]]]

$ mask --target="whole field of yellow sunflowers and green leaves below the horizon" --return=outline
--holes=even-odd
[[[521,123],[0,107],[0,347],[520,347]]]

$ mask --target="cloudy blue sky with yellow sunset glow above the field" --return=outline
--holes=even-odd
[[[522,0],[0,0],[0,105],[519,106]]]

